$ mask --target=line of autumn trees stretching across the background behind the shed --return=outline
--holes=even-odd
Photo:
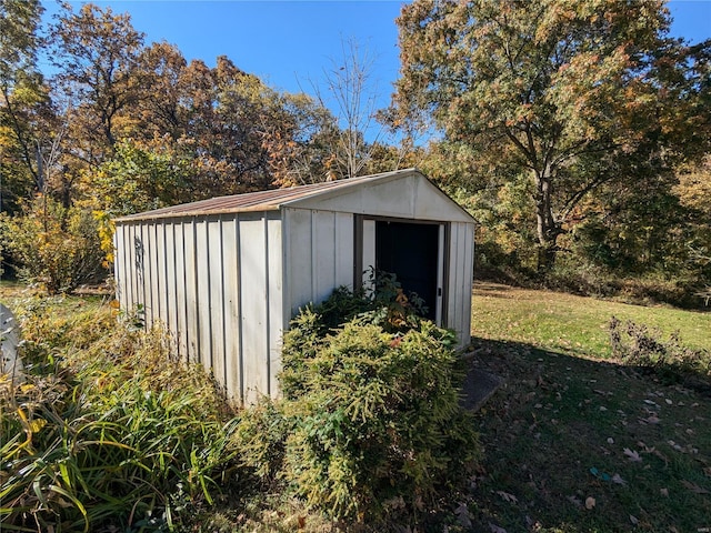
[[[711,40],[671,38],[661,0],[404,4],[400,78],[378,112],[397,144],[368,142],[371,110],[347,109],[368,97],[354,54],[327,87],[344,124],[318,91],[279,92],[227,57],[188,62],[108,7],[64,4],[47,26],[41,12],[0,2],[13,233],[31,215],[49,231],[52,209],[66,231],[79,210],[108,249],[111,217],[418,165],[480,221],[481,270],[711,283]]]

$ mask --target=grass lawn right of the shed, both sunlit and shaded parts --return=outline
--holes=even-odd
[[[607,333],[614,314],[709,349],[711,314],[492,284],[472,306],[473,364],[505,384],[464,531],[711,531],[709,391],[617,364]]]

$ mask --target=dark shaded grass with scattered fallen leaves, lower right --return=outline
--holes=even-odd
[[[473,344],[470,370],[503,384],[475,415],[484,460],[462,531],[711,526],[709,396],[610,361]]]

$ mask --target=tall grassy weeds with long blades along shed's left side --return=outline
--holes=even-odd
[[[0,382],[3,531],[174,530],[230,485],[237,422],[212,381],[102,309],[71,321],[84,349],[41,338],[60,306],[21,311],[26,381]]]

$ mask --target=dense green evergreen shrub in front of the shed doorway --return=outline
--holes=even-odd
[[[323,308],[337,300],[352,313],[359,296],[347,296],[341,289]],[[425,320],[388,331],[385,316],[371,310],[332,330],[307,309],[284,335],[283,412],[293,431],[282,475],[334,519],[417,521],[461,486],[478,457],[474,425],[459,406],[452,333]]]

